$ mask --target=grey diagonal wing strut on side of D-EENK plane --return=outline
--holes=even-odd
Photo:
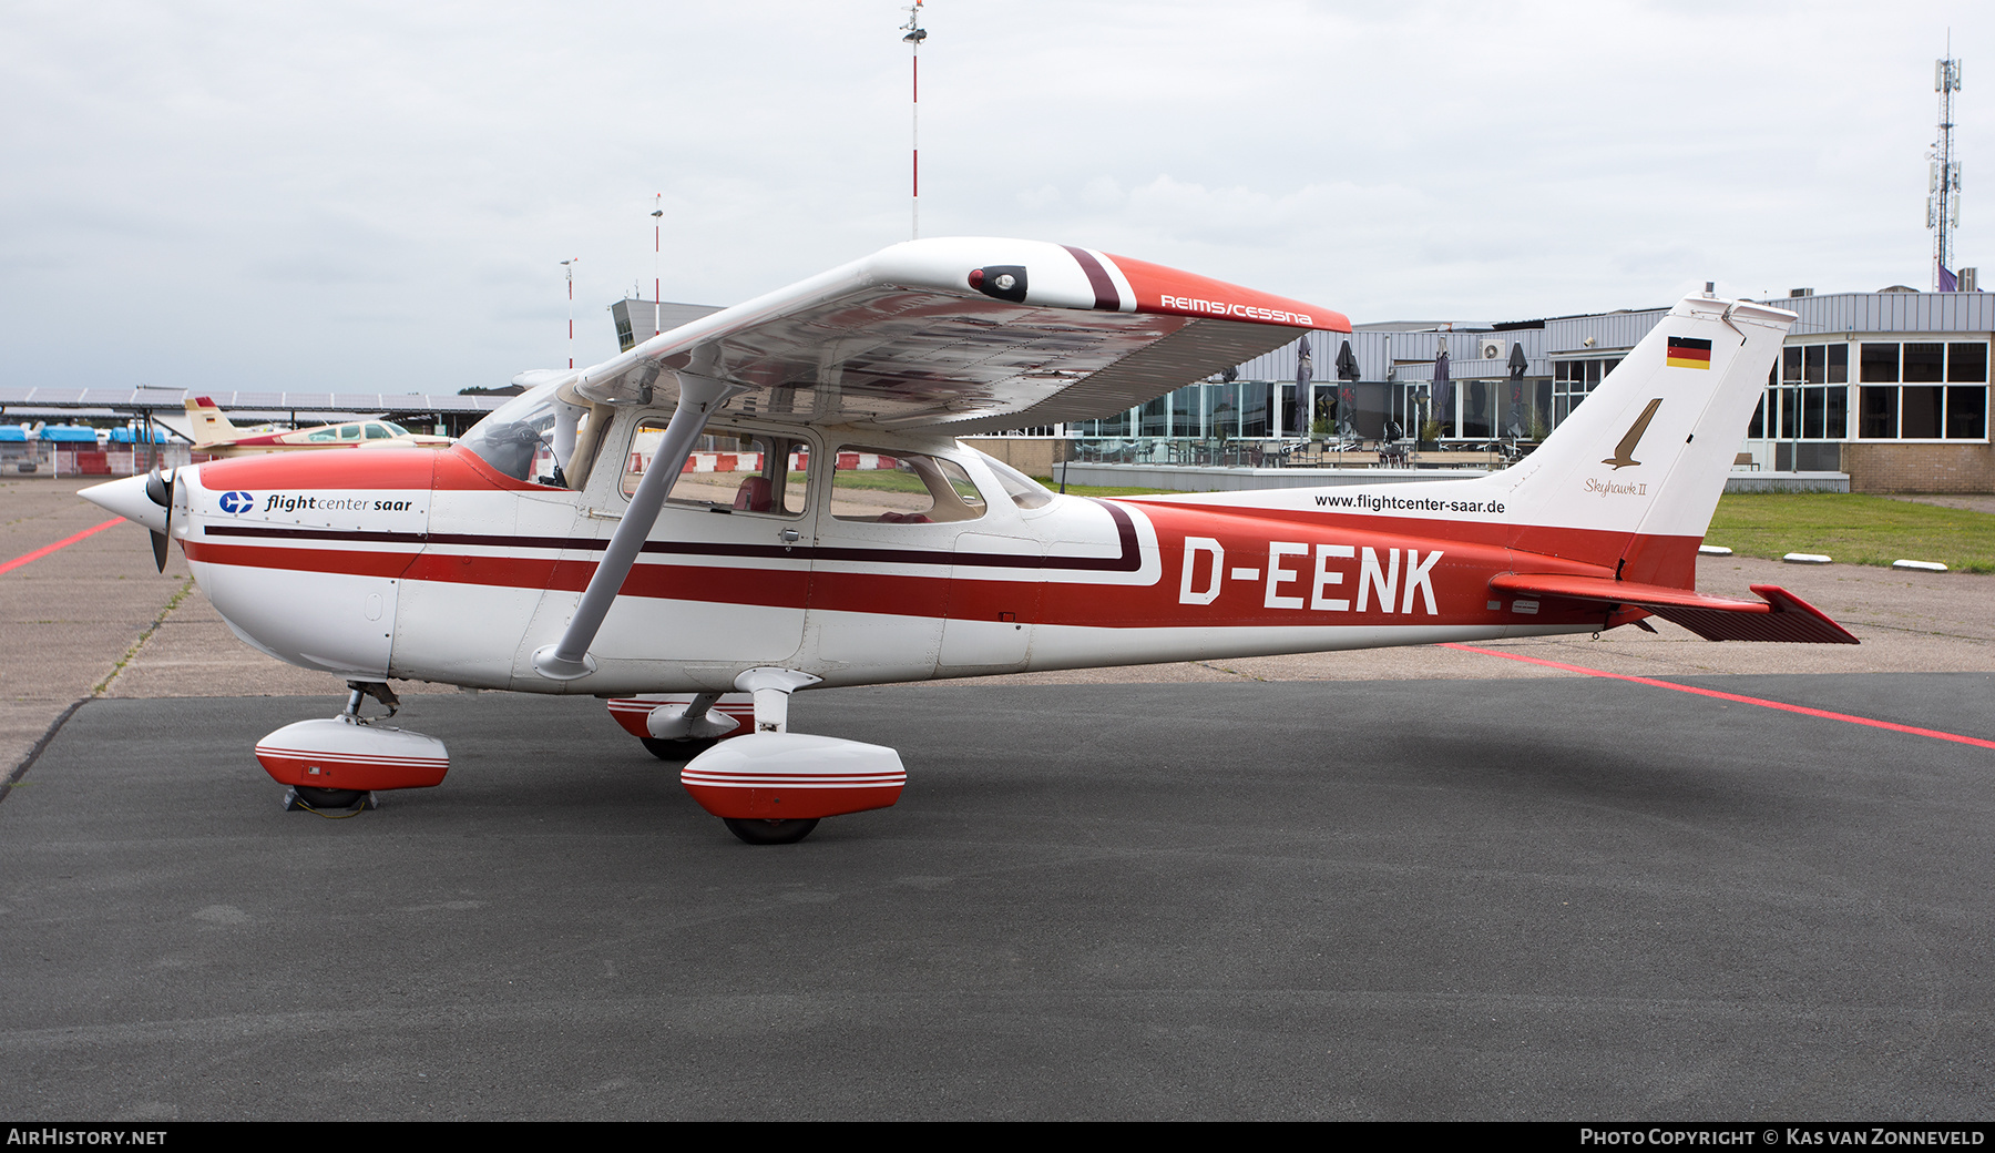
[[[561,634],[559,642],[543,644],[533,652],[535,672],[549,680],[575,680],[597,670],[597,658],[589,656],[589,644],[595,642],[597,630],[602,628],[602,618],[608,616],[616,592],[622,590],[624,576],[630,575],[630,565],[636,565],[644,537],[650,535],[650,527],[658,521],[658,509],[664,507],[664,497],[672,491],[672,483],[678,481],[678,471],[686,467],[686,457],[692,455],[692,441],[706,427],[706,417],[740,391],[746,389],[692,373],[678,375],[678,407],[672,409],[672,421],[664,427],[658,451],[650,457],[650,467],[644,469],[644,477],[636,483],[630,507],[624,509],[624,517],[610,537],[610,547],[602,551],[602,563],[597,565],[595,576],[589,578],[589,588],[583,588],[583,598],[575,604],[575,616],[569,618],[569,630]]]

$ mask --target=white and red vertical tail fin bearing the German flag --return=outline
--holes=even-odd
[[[1520,465],[1492,477],[1516,547],[1690,588],[1794,313],[1686,297]]]

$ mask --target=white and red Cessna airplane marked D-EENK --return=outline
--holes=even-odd
[[[443,780],[441,742],[361,716],[363,696],[393,714],[389,678],[597,694],[690,758],[680,780],[736,836],[790,842],[906,780],[890,748],[788,732],[812,686],[1648,614],[1853,644],[1780,588],[1696,590],[1790,323],[1684,299],[1488,477],[1095,501],[958,435],[1123,411],[1349,321],[1093,249],[924,239],[559,373],[453,449],[213,461],[86,497],[180,541],[243,640],[349,680],[343,716],[257,744],[293,798]],[[692,463],[702,433],[732,439],[726,467]]]

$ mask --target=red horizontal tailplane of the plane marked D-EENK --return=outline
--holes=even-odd
[[[1706,640],[1788,640],[1803,644],[1857,644],[1847,628],[1819,608],[1776,584],[1754,584],[1764,600],[1706,596],[1694,588],[1638,584],[1608,576],[1566,576],[1556,573],[1500,573],[1490,588],[1504,594],[1558,596],[1590,604],[1628,604]]]

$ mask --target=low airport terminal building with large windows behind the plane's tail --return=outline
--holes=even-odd
[[[1740,445],[1740,471],[1847,473],[1857,493],[1995,491],[1995,297],[1797,289],[1772,303],[1799,321],[1768,375]],[[1185,385],[1127,413],[1031,433],[1073,441],[1075,459],[1131,463],[1207,463],[1217,459],[1215,445],[1299,439],[1311,423],[1319,437],[1343,433],[1367,447],[1391,439],[1438,449],[1528,447],[1584,403],[1666,311],[1311,333],[1239,365],[1235,379]],[[1303,343],[1311,383],[1299,389]],[[1448,357],[1446,383],[1434,379],[1440,353]]]

